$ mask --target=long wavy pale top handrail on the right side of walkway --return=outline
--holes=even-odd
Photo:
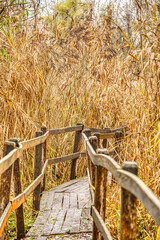
[[[134,174],[122,170],[110,156],[97,154],[84,133],[82,133],[82,140],[93,164],[109,170],[118,184],[133,193],[143,203],[156,222],[160,224],[160,200],[145,183]]]

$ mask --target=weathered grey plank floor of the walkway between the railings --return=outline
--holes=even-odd
[[[44,192],[38,217],[25,239],[91,239],[90,208],[86,177]]]

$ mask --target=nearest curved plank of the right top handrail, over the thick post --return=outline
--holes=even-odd
[[[135,195],[160,225],[160,200],[145,185],[145,183],[132,173],[119,169],[117,171],[118,184]]]

